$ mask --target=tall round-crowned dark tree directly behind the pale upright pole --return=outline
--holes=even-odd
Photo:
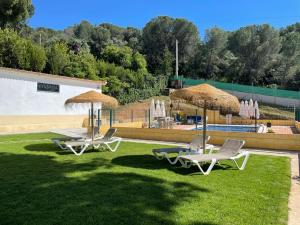
[[[175,41],[179,41],[179,63],[185,65],[199,43],[197,27],[185,19],[160,16],[152,19],[143,29],[143,52],[147,55],[149,71],[163,71],[165,48],[174,56]],[[174,61],[173,61],[174,65]]]

